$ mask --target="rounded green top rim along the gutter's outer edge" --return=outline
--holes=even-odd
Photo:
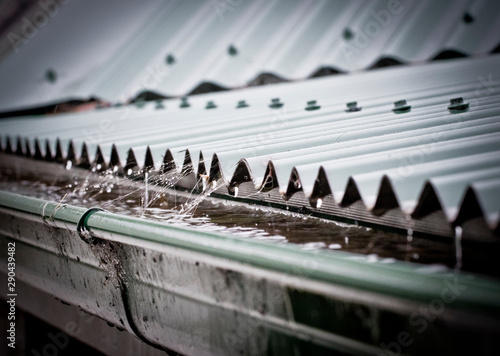
[[[426,266],[397,261],[368,262],[361,255],[342,251],[306,251],[291,244],[216,234],[104,211],[89,214],[85,208],[4,191],[0,191],[0,207],[74,226],[87,212],[81,223],[96,237],[111,233],[153,241],[265,270],[411,301],[430,302],[441,298],[447,283],[453,283],[463,289],[454,307],[500,315],[500,282],[470,273],[449,269],[432,272],[432,268]]]

